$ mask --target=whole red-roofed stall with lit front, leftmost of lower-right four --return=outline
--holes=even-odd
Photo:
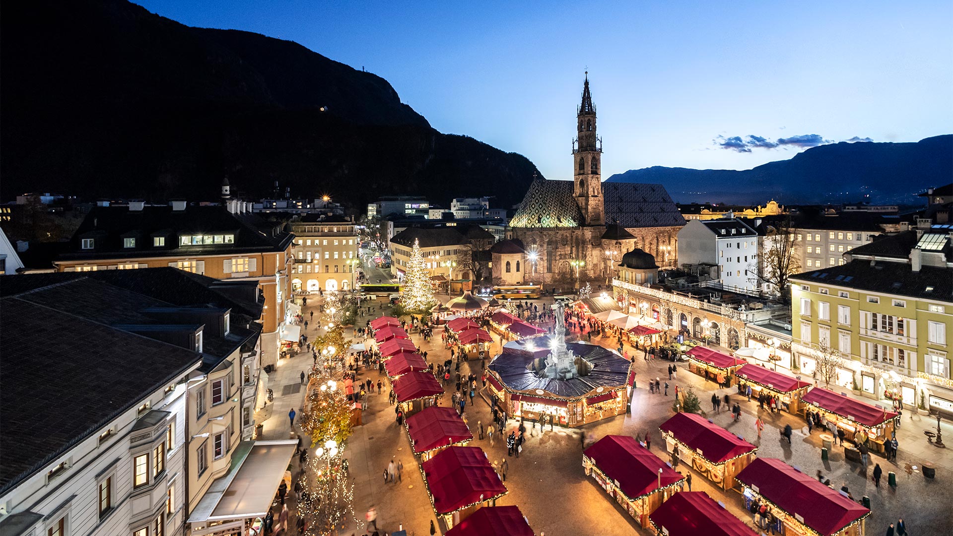
[[[645,528],[649,514],[679,491],[685,477],[629,436],[605,436],[582,452],[582,466]]]

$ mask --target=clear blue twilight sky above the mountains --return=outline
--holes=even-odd
[[[437,130],[526,155],[549,178],[571,176],[586,68],[603,177],[953,132],[949,0],[138,3],[364,67]]]

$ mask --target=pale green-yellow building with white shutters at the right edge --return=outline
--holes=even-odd
[[[844,360],[834,382],[864,396],[885,391],[907,407],[921,397],[953,414],[949,340],[953,329],[953,225],[930,225],[876,238],[845,262],[792,278],[795,359],[814,371],[819,349]]]

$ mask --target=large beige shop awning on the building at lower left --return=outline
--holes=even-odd
[[[239,443],[229,471],[213,481],[189,523],[264,517],[296,445],[294,440]]]

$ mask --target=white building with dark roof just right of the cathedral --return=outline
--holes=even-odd
[[[717,266],[712,278],[725,289],[751,292],[757,275],[758,234],[738,218],[693,219],[679,231],[682,266]]]

